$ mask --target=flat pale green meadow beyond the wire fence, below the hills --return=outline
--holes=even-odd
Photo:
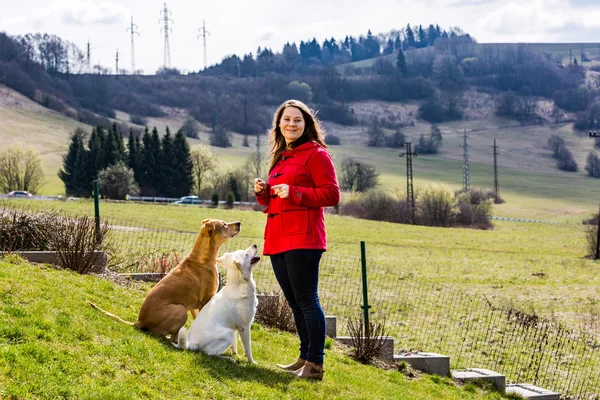
[[[11,201],[11,204],[93,213],[90,201]],[[531,206],[536,209],[536,204]],[[251,240],[261,246],[265,223],[261,212],[176,205],[103,202],[101,215],[115,225],[191,232],[188,236],[114,232],[117,241],[126,243],[126,247],[150,240],[156,247],[177,248],[184,253],[204,218],[242,221],[242,232],[232,245]],[[573,219],[573,215],[563,217]],[[359,242],[364,240],[369,262],[395,266],[398,274],[486,295],[495,304],[518,307],[600,334],[600,326],[593,326],[600,317],[597,307],[600,264],[584,258],[588,251],[581,223],[494,221],[494,230],[480,231],[365,221],[338,215],[327,215],[326,222],[331,257],[360,257]],[[269,271],[268,265],[261,265]]]

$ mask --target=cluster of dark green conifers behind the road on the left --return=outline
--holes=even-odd
[[[133,194],[138,187],[141,194],[150,196],[181,197],[192,191],[192,158],[182,130],[173,136],[167,127],[162,138],[156,127],[152,132],[146,127],[141,137],[130,131],[127,148],[116,125],[109,130],[95,127],[87,146],[84,146],[85,136],[84,131],[76,131],[63,156],[63,168],[58,175],[67,195],[91,196],[92,182],[99,177],[126,186],[116,191],[121,193],[119,197]],[[118,173],[122,179],[113,179],[107,173],[103,175],[104,171]],[[127,179],[128,173],[131,180]]]

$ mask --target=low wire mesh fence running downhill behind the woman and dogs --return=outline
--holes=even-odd
[[[111,226],[103,247],[109,268],[117,272],[166,272],[189,252],[197,235],[127,219],[103,222]],[[262,239],[236,237],[220,253],[252,244],[260,248]],[[442,353],[451,357],[454,369],[491,369],[506,375],[508,383],[534,384],[564,399],[600,399],[600,343],[593,337],[402,273],[396,265],[367,260],[367,271],[370,319],[386,321],[396,353]],[[268,257],[261,258],[253,274],[259,292],[279,291]],[[362,314],[361,259],[327,252],[319,279],[326,315],[337,317],[339,335],[348,335],[348,319]]]

